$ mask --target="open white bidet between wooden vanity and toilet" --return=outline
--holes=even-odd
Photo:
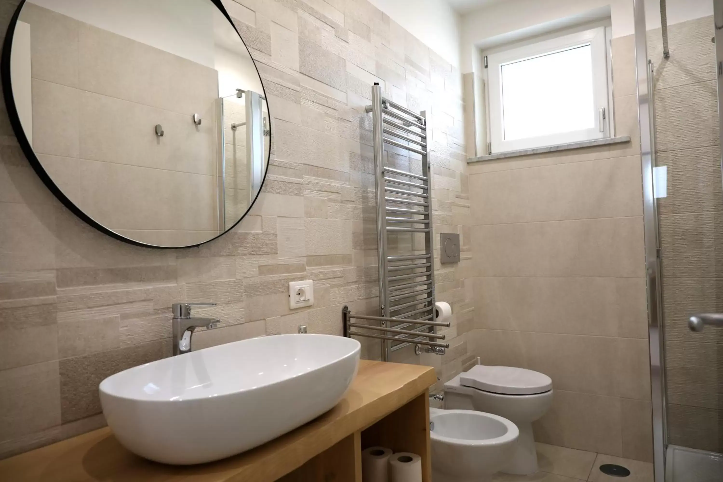
[[[510,460],[514,423],[476,410],[429,409],[432,481],[487,482]]]

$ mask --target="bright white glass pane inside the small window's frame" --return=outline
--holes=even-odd
[[[505,140],[595,126],[591,46],[505,64],[500,69]]]

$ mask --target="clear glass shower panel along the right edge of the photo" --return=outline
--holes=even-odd
[[[635,2],[640,14],[642,0]],[[656,482],[713,482],[720,481],[723,474],[723,327],[693,332],[688,319],[694,314],[723,313],[723,189],[716,69],[723,59],[716,60],[712,0],[694,2],[695,9],[688,0],[665,3],[661,2],[667,20],[662,21],[658,2],[645,2],[644,36],[642,22],[636,20],[636,37],[646,38],[649,60],[649,97],[641,95],[640,102],[643,106],[649,100],[653,111],[654,218],[646,217],[646,224],[656,223],[659,248],[659,276],[653,283],[659,283],[656,318],[660,329],[651,329],[651,350],[658,335],[662,350],[661,370],[653,374],[660,386],[656,394],[654,384],[653,397],[661,400],[654,413],[659,428],[656,447],[662,447],[656,452]],[[723,37],[718,40],[723,42]],[[641,66],[646,64],[639,58],[641,48],[637,55],[641,83],[645,79]],[[646,244],[651,242],[655,240],[646,236]],[[651,319],[651,326],[655,324]]]

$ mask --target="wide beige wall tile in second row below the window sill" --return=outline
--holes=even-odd
[[[479,276],[642,277],[642,218],[472,227]]]

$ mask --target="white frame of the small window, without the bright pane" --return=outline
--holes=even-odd
[[[609,72],[606,27],[594,27],[581,32],[561,35],[557,38],[529,43],[487,56],[487,84],[489,109],[487,121],[491,152],[508,152],[552,145],[569,144],[610,137],[609,119]],[[534,59],[550,53],[569,50],[576,46],[591,46],[594,92],[594,127],[573,132],[561,132],[527,139],[504,139],[502,113],[502,69],[501,66],[515,61]],[[602,110],[604,109],[604,110]],[[604,114],[603,114],[604,113]],[[604,117],[604,119],[603,119]],[[601,123],[602,122],[602,123]]]

